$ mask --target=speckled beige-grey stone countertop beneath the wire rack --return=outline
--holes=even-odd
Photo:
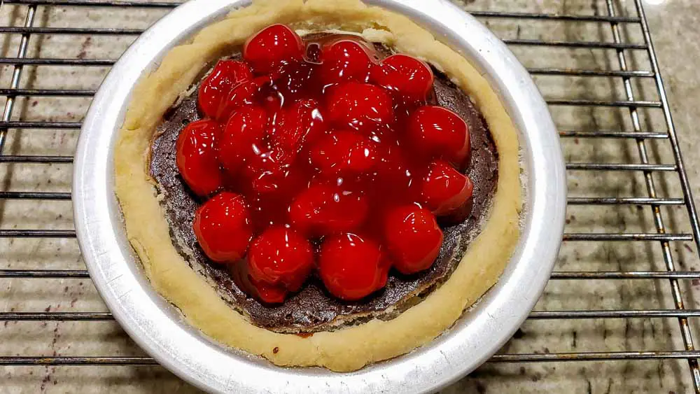
[[[146,2],[146,1],[144,1]],[[700,3],[693,0],[645,0],[652,38],[664,76],[668,100],[685,154],[696,203],[700,202]],[[468,10],[524,13],[608,15],[604,0],[468,0]],[[616,0],[617,15],[636,16],[634,1]],[[167,12],[164,8],[39,6],[36,27],[99,27],[144,29]],[[0,27],[22,26],[27,6],[3,3]],[[498,36],[546,41],[612,41],[610,24],[483,18]],[[643,43],[638,24],[621,24],[625,42]],[[1,30],[6,31],[6,30]],[[2,57],[16,57],[20,36],[0,32]],[[32,34],[27,57],[116,59],[134,39],[130,34]],[[619,69],[614,50],[512,45],[526,66],[570,69]],[[631,69],[650,70],[643,50],[626,50]],[[10,87],[13,66],[0,64],[0,89]],[[25,66],[25,89],[94,90],[109,67]],[[622,78],[536,76],[547,99],[624,100]],[[636,100],[657,101],[652,78],[635,78]],[[20,97],[14,121],[78,122],[89,97]],[[0,97],[4,105],[6,97]],[[552,105],[557,126],[565,130],[633,131],[627,108]],[[666,132],[659,108],[639,111],[641,129]],[[72,155],[76,129],[10,129],[3,155]],[[70,125],[66,125],[68,127]],[[564,138],[568,162],[638,163],[638,147],[629,139]],[[650,162],[673,164],[667,139],[648,139]],[[0,162],[0,192],[69,192],[70,164]],[[658,197],[682,197],[673,171],[653,175]],[[648,197],[640,171],[568,171],[571,197]],[[671,233],[689,233],[682,205],[662,206]],[[71,230],[69,200],[3,199],[0,230]],[[655,232],[649,206],[573,205],[567,213],[568,233]],[[670,245],[678,270],[700,270],[692,241]],[[658,242],[568,241],[561,248],[557,271],[664,271]],[[84,269],[75,239],[0,237],[0,269]],[[700,281],[681,281],[687,309],[697,309]],[[666,280],[552,280],[537,311],[673,309]],[[89,279],[0,279],[0,313],[36,311],[106,311]],[[1,315],[0,315],[1,316]],[[690,323],[696,343],[700,321]],[[500,353],[568,353],[580,351],[670,351],[682,349],[675,318],[531,319]],[[1,356],[141,356],[140,349],[113,321],[0,321]],[[687,393],[692,391],[685,360],[622,360],[615,362],[487,363],[444,393]],[[0,393],[190,393],[195,388],[162,367],[0,367]]]

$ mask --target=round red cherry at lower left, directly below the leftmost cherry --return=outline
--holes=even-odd
[[[193,227],[202,250],[216,262],[239,260],[253,238],[248,204],[232,192],[221,192],[202,204]]]

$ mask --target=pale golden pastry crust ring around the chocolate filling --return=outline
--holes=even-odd
[[[155,127],[207,62],[273,23],[297,29],[362,32],[368,39],[425,59],[470,94],[493,134],[499,173],[489,220],[450,278],[423,302],[390,321],[374,319],[307,338],[258,328],[221,300],[173,245],[146,162]],[[204,334],[276,365],[352,371],[426,344],[447,330],[465,308],[498,281],[519,237],[519,143],[496,93],[466,59],[436,41],[428,31],[407,17],[365,6],[359,0],[256,0],[204,28],[192,43],[171,50],[158,69],[134,89],[115,149],[116,195],[127,236],[155,289]]]

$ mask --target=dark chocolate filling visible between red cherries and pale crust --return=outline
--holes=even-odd
[[[314,34],[304,37],[304,40],[315,41],[320,37],[328,35]],[[391,53],[383,45],[375,44],[375,47],[382,56]],[[447,280],[469,242],[477,235],[498,181],[498,153],[484,118],[469,97],[447,76],[434,68],[433,72],[433,101],[458,113],[469,125],[472,154],[466,173],[474,183],[474,203],[470,216],[462,223],[441,225],[444,241],[440,255],[430,269],[412,276],[391,272],[384,290],[359,302],[344,302],[332,297],[317,277],[309,279],[299,293],[283,304],[262,304],[246,295],[232,281],[228,269],[211,262],[198,246],[192,223],[200,202],[188,190],[176,166],[175,146],[179,133],[188,122],[202,118],[197,111],[197,90],[165,114],[151,151],[151,175],[164,197],[162,204],[172,237],[183,257],[193,269],[215,283],[218,293],[232,308],[246,314],[251,323],[278,332],[315,332],[371,317],[391,318],[419,302],[421,295]]]

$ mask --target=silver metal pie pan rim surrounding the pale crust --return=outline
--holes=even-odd
[[[282,368],[216,344],[151,288],[127,241],[113,190],[113,144],[137,80],[174,46],[245,0],[191,0],[148,29],[113,66],[83,123],[73,178],[85,264],[116,320],[169,370],[218,393],[420,393],[456,381],[496,353],[549,279],[563,233],[566,182],[552,118],[527,71],[474,17],[447,0],[370,0],[403,13],[486,76],[519,129],[526,209],[517,250],[500,280],[443,335],[404,356],[339,374]]]

